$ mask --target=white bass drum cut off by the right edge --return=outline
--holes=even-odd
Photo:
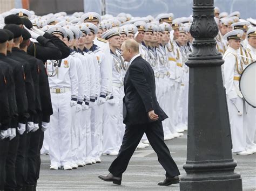
[[[242,72],[239,86],[244,100],[256,108],[256,61],[248,65]]]

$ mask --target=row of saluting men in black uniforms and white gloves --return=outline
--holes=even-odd
[[[18,13],[6,16],[0,29],[0,190],[36,190],[52,115],[44,62],[70,55],[63,41],[49,33],[30,42],[24,24],[32,23]]]

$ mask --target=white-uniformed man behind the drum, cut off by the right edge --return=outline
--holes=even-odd
[[[252,27],[247,31],[248,45],[246,51],[248,52],[249,65],[256,61],[256,27]],[[254,63],[256,64],[256,63]],[[247,67],[248,65],[245,65]],[[248,68],[249,69],[249,68]],[[246,114],[244,115],[244,126],[246,128],[246,149],[252,153],[256,153],[256,144],[254,143],[255,129],[256,129],[256,109],[246,103]]]

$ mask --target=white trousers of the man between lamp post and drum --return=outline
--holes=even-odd
[[[246,130],[243,123],[244,114],[244,101],[242,98],[237,97],[235,105],[242,112],[242,115],[238,115],[238,110],[235,108],[234,104],[227,99],[228,115],[230,117],[230,128],[232,137],[232,152],[245,151],[246,148]]]

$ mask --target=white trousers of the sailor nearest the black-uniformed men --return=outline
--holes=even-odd
[[[51,165],[70,165],[71,158],[71,92],[51,93],[53,114],[49,124]]]

